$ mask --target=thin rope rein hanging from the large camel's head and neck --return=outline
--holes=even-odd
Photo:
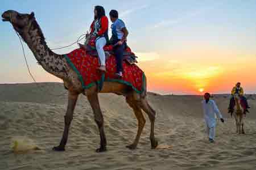
[[[22,40],[23,40],[23,39],[22,39],[22,37],[19,36],[18,32],[15,31],[15,33],[16,33],[16,35],[19,37],[19,41],[20,41],[20,44],[21,44],[21,46],[22,46],[23,57],[24,57],[24,60],[25,60],[26,66],[27,66],[28,74],[31,76],[31,78],[33,79],[33,81],[36,83],[36,86],[38,86],[39,89],[44,92],[42,86],[39,86],[38,82],[36,82],[36,80],[35,80],[35,77],[34,77],[34,76],[32,75],[32,73],[31,73],[30,66],[28,65],[28,62],[27,62],[27,57],[26,57],[26,54],[25,54],[24,46],[23,46],[23,44],[22,44]],[[54,48],[54,49],[51,49],[51,50],[64,49],[64,48],[67,48],[67,47],[69,47],[69,46],[72,46],[72,45],[74,45],[74,44],[76,44],[76,43],[78,44],[79,41],[81,41],[82,39],[85,39],[85,37],[86,37],[86,35],[85,35],[85,34],[82,34],[81,36],[79,36],[79,38],[77,39],[77,41],[73,42],[72,44],[67,45],[67,46],[63,46],[63,47],[60,47],[60,48]],[[24,41],[24,40],[23,40],[23,41]],[[65,91],[63,94],[60,94],[60,95],[53,95],[53,94],[49,94],[49,95],[50,95],[50,96],[55,96],[55,97],[61,97],[61,96],[64,96],[64,95],[66,95],[66,94],[67,94],[67,91]]]

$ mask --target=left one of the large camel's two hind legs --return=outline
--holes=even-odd
[[[126,146],[127,148],[130,148],[131,150],[135,150],[137,148],[139,138],[141,137],[141,133],[142,133],[142,130],[146,123],[146,120],[145,120],[145,118],[142,114],[141,108],[139,107],[136,100],[133,100],[132,97],[128,96],[128,97],[126,97],[126,101],[129,104],[129,106],[131,108],[133,108],[134,114],[138,120],[138,131],[137,131],[136,138],[131,145]]]

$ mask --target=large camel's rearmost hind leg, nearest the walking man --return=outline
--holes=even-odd
[[[151,141],[151,148],[156,148],[158,146],[158,141],[155,139],[154,128],[155,128],[155,111],[150,107],[147,103],[147,99],[142,99],[141,101],[141,108],[145,113],[147,113],[148,118],[150,119],[151,123],[151,130],[150,130],[150,141]]]

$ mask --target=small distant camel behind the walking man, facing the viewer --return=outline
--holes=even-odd
[[[234,118],[236,119],[237,133],[245,134],[245,130],[243,129],[243,116],[245,114],[240,103],[240,97],[238,94],[234,95],[234,100],[236,102]]]

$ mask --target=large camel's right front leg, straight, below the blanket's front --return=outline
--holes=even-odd
[[[104,132],[104,118],[101,113],[100,102],[98,101],[98,94],[94,93],[92,95],[87,96],[89,100],[90,106],[93,109],[94,120],[98,126],[100,131],[100,148],[97,148],[96,152],[104,152],[106,151],[106,136]]]

